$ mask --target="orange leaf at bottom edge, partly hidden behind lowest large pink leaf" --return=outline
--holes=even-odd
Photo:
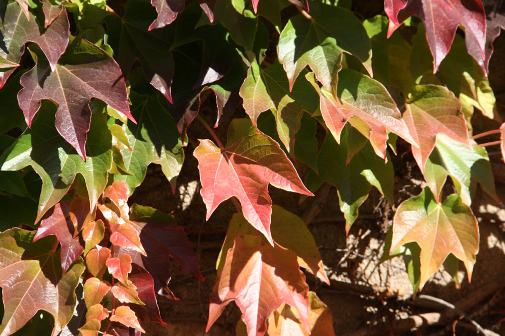
[[[309,292],[308,296],[310,300],[310,334],[335,336],[333,316],[331,316],[328,306],[317,297],[316,293]],[[269,336],[309,336],[309,332],[300,320],[298,311],[287,304],[283,304],[270,315],[267,321],[267,333]]]

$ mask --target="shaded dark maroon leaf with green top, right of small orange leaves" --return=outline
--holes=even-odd
[[[134,204],[131,207],[130,224],[146,247],[147,256],[142,257],[139,265],[153,275],[158,294],[163,295],[163,290],[170,294],[167,288],[171,277],[169,256],[179,263],[183,271],[204,280],[184,229],[171,216]],[[136,262],[136,258],[133,262]]]

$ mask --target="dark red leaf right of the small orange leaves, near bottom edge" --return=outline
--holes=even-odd
[[[145,304],[130,305],[140,322],[157,322],[166,325],[160,315],[160,308],[156,300],[155,282],[153,277],[142,267],[132,264],[130,281],[137,288],[138,298]]]

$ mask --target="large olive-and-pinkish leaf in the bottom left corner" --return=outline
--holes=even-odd
[[[38,310],[54,317],[52,336],[60,333],[74,313],[75,288],[84,271],[78,259],[62,276],[56,237],[33,242],[35,232],[11,229],[0,233],[0,287],[4,318],[0,334],[20,329]]]

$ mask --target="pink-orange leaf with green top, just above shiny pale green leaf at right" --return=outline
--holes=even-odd
[[[416,85],[406,104],[403,120],[419,145],[412,146],[412,154],[421,172],[435,147],[439,133],[471,148],[461,103],[452,92],[442,86]]]

